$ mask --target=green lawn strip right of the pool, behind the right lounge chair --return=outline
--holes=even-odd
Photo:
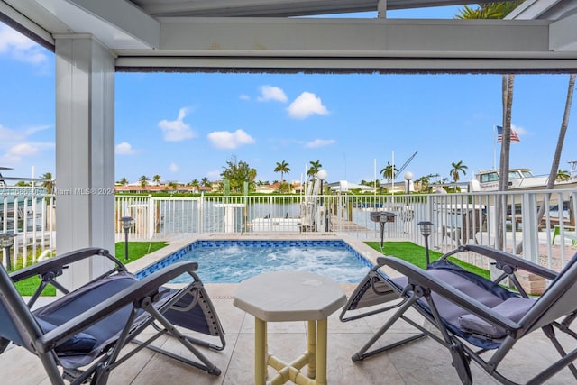
[[[408,261],[421,269],[426,268],[426,253],[425,248],[423,246],[419,246],[412,242],[385,242],[383,244],[382,250],[380,250],[380,243],[379,242],[365,242],[373,249],[378,252],[382,252],[384,255],[392,255],[394,257],[400,258],[401,260]],[[429,259],[430,261],[438,260],[443,254],[440,252],[435,252],[433,250],[429,250]],[[490,272],[489,270],[484,270],[478,268],[477,266],[473,266],[470,263],[463,262],[453,257],[449,257],[450,261],[453,261],[455,264],[461,266],[465,270],[469,270],[481,277],[484,277],[490,280]]]

